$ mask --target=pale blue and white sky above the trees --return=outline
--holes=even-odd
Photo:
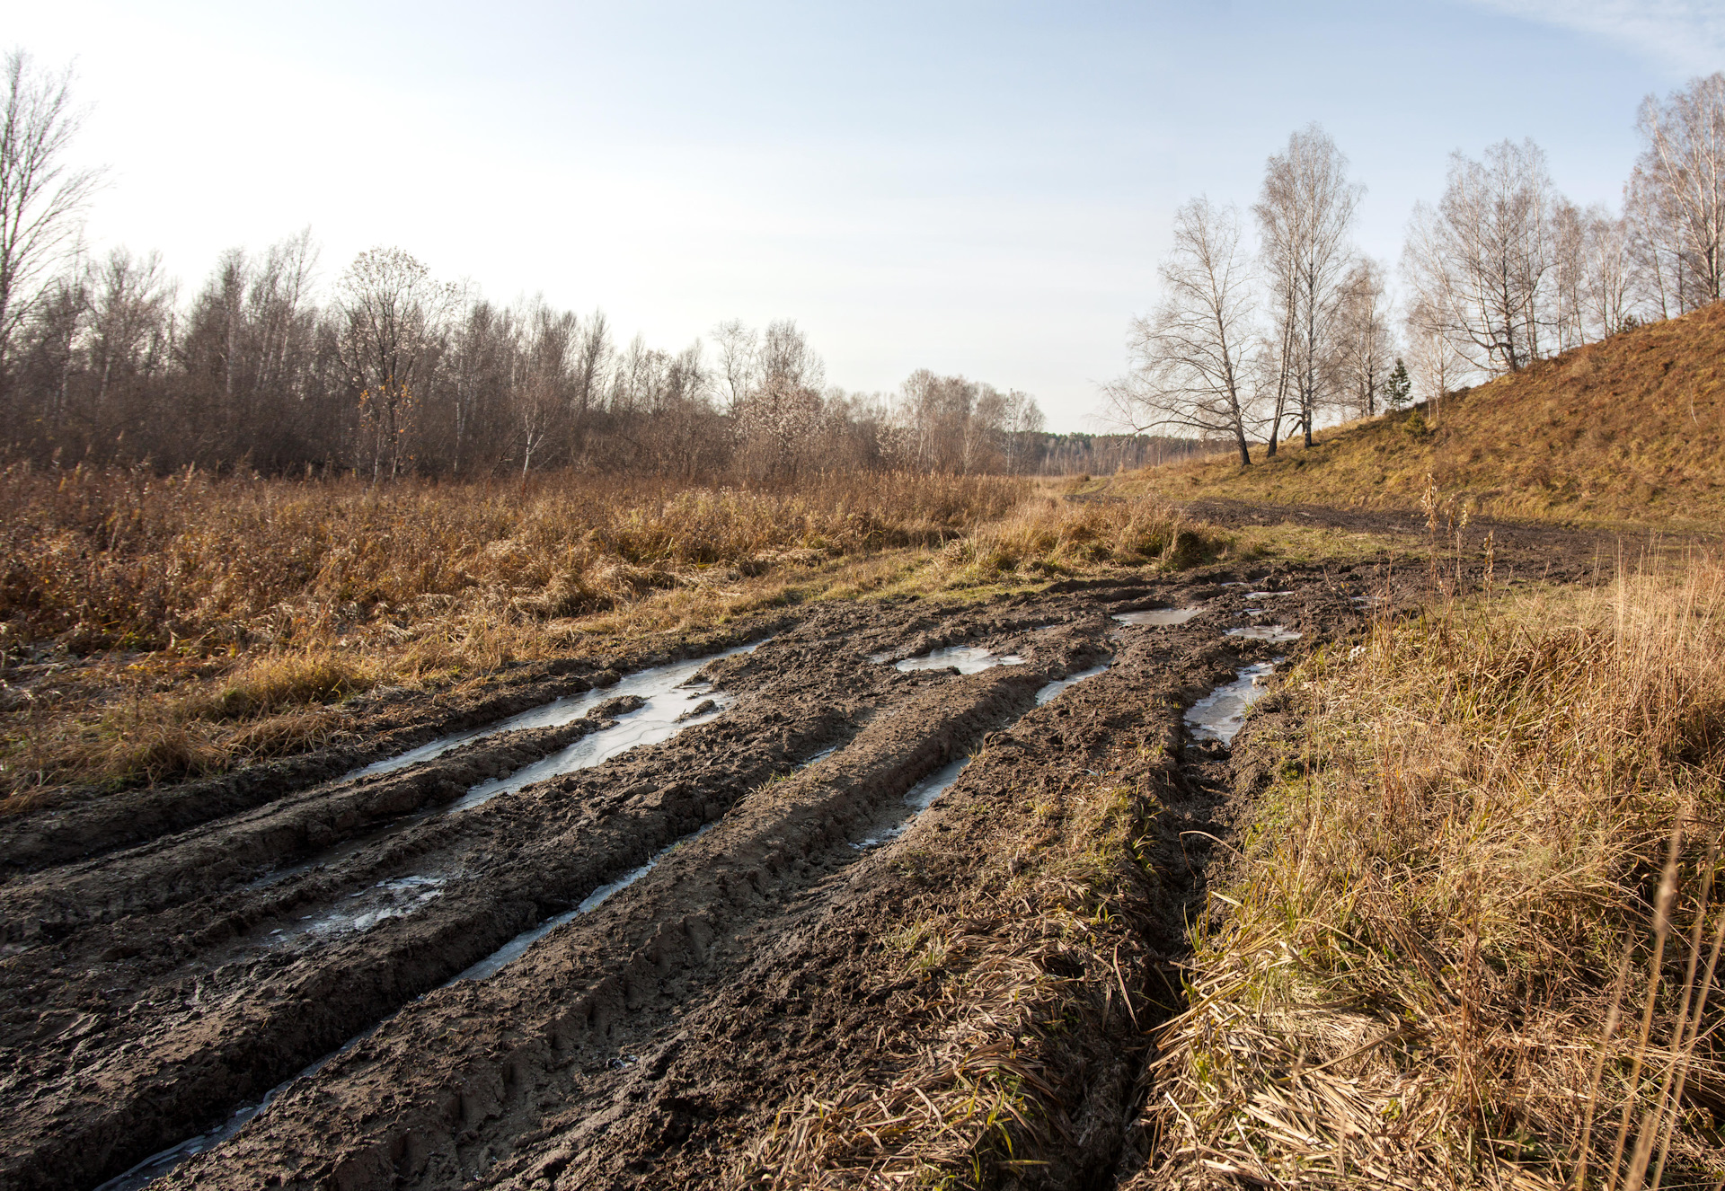
[[[1316,121],[1392,267],[1454,150],[1530,136],[1615,205],[1642,97],[1725,69],[1725,0],[0,0],[0,48],[72,65],[86,241],[183,296],[309,226],[326,290],[392,245],[668,350],[795,319],[847,390],[957,372],[1078,431],[1182,202],[1249,209]]]

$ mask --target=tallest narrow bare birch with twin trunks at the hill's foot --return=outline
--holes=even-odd
[[[1264,165],[1264,186],[1252,212],[1263,236],[1276,319],[1270,340],[1271,455],[1289,405],[1311,446],[1313,419],[1323,400],[1323,360],[1335,329],[1337,288],[1351,259],[1347,233],[1363,193],[1363,186],[1347,181],[1347,159],[1316,124],[1289,136],[1287,150]]]

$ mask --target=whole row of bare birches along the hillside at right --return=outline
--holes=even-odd
[[[1725,74],[1639,112],[1618,209],[1558,193],[1532,141],[1454,153],[1418,203],[1394,300],[1352,245],[1364,188],[1318,126],[1270,159],[1251,221],[1192,200],[1175,215],[1161,296],[1133,319],[1132,371],[1107,386],[1135,431],[1247,446],[1325,417],[1368,417],[1515,372],[1725,295]],[[1256,233],[1256,236],[1254,236]]]

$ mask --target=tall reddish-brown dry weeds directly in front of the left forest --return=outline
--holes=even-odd
[[[295,645],[414,605],[573,614],[783,552],[930,546],[1004,515],[1007,477],[821,477],[794,491],[0,471],[0,622],[72,650]]]

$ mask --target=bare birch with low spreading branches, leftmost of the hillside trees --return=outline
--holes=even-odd
[[[1109,414],[1135,434],[1175,427],[1232,440],[1247,467],[1252,276],[1235,210],[1194,198],[1175,212],[1159,274],[1161,305],[1132,321],[1132,371],[1104,388]]]

